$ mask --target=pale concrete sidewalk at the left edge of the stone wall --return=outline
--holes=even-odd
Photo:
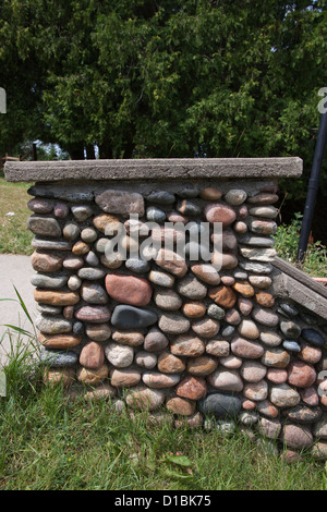
[[[29,256],[0,254],[0,298],[17,300],[14,290],[14,287],[16,287],[33,320],[37,316],[36,303],[33,297],[34,287],[31,284],[31,278],[34,273]],[[0,340],[7,330],[7,327],[3,327],[4,324],[17,326],[33,332],[31,322],[19,302],[0,301]],[[26,342],[28,342],[28,339],[26,339]],[[5,336],[0,345],[0,366],[5,364],[5,354],[9,350],[10,340]]]

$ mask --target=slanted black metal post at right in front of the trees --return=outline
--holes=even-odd
[[[312,220],[316,204],[316,197],[319,186],[319,176],[322,170],[322,162],[324,157],[324,150],[327,141],[327,112],[322,113],[320,124],[318,131],[318,137],[315,147],[315,155],[313,159],[311,176],[307,185],[307,194],[303,214],[303,221],[299,241],[296,263],[303,264],[305,260],[305,254],[307,249],[308,236],[312,228]]]

